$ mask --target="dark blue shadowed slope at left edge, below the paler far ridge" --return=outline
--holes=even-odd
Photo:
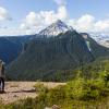
[[[0,59],[2,59],[5,64],[13,61],[22,51],[22,45],[10,41],[4,37],[0,37]]]

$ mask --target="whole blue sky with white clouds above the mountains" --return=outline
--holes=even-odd
[[[57,20],[109,34],[109,0],[0,0],[0,36],[37,34]]]

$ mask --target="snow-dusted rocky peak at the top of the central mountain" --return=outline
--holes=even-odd
[[[68,26],[65,23],[63,23],[61,20],[58,20],[57,22],[52,23],[47,28],[39,32],[39,35],[45,36],[57,36],[60,33],[65,33],[68,31],[73,31],[71,26]]]

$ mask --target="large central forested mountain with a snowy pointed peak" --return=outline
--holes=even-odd
[[[65,81],[66,70],[109,55],[86,33],[77,33],[58,20],[39,34],[29,37],[24,51],[7,69],[10,80]],[[72,71],[73,73],[73,71]]]

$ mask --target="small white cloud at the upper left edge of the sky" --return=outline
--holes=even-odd
[[[9,15],[8,11],[4,8],[0,7],[0,21],[10,21],[12,17]]]

